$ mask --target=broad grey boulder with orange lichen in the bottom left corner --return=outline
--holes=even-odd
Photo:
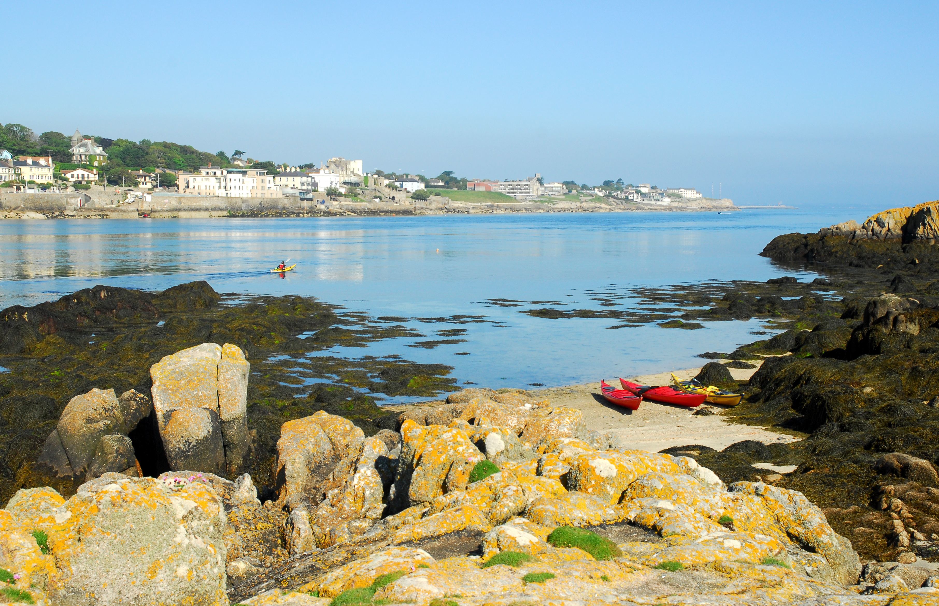
[[[21,493],[7,511],[20,528],[48,535],[52,603],[228,603],[224,509],[205,486],[105,474],[65,502]],[[4,525],[0,537],[16,531]]]

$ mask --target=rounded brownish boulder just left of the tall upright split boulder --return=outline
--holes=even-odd
[[[75,396],[39,455],[38,465],[64,480],[91,479],[109,471],[136,473],[128,433],[150,414],[150,401],[133,389],[115,397],[114,389]]]

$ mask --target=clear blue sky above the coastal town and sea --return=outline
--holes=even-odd
[[[939,5],[5,6],[0,122],[300,163],[939,198]],[[22,26],[17,26],[20,24]],[[61,84],[55,84],[60,82]]]

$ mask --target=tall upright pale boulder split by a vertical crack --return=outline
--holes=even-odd
[[[237,345],[203,343],[150,367],[153,407],[173,470],[236,474],[250,439],[251,365]]]

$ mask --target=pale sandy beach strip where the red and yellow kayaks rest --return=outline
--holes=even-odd
[[[755,362],[759,365],[760,362]],[[759,366],[758,366],[759,368]],[[757,369],[728,369],[735,380],[749,379]],[[674,371],[681,379],[688,379],[700,368]],[[670,385],[670,371],[624,379],[642,385]],[[612,386],[620,386],[618,377],[606,379]],[[758,440],[763,444],[788,444],[797,441],[792,435],[770,432],[753,425],[729,422],[727,417],[696,416],[697,408],[686,408],[654,401],[642,401],[639,410],[632,411],[608,403],[600,396],[600,382],[587,385],[561,386],[529,391],[537,399],[551,401],[552,406],[569,406],[583,411],[587,428],[616,435],[623,447],[658,452],[665,448],[700,445],[723,450],[742,440]],[[716,409],[722,408],[712,404]]]

